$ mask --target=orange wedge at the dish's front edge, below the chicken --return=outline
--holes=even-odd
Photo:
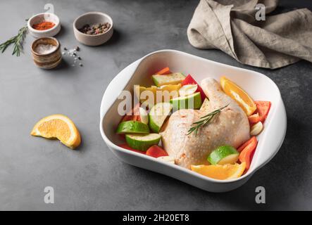
[[[192,171],[218,180],[238,178],[242,176],[245,168],[245,162],[226,165],[191,165]]]

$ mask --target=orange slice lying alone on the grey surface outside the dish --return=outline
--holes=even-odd
[[[68,148],[77,148],[81,138],[78,129],[70,118],[55,114],[39,120],[32,129],[32,136],[41,136],[46,139],[58,139]]]

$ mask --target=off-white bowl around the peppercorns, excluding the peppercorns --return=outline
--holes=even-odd
[[[81,29],[84,25],[92,26],[99,23],[110,23],[111,27],[109,27],[108,30],[102,34],[85,34],[79,31],[79,29]],[[73,29],[77,41],[89,46],[98,46],[111,39],[113,35],[113,20],[106,13],[89,12],[82,14],[75,19]]]

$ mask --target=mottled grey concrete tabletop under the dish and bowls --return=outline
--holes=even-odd
[[[1,1],[0,41],[11,37],[32,14],[54,4],[63,46],[81,47],[84,67],[65,58],[56,70],[25,54],[0,55],[0,210],[312,210],[312,63],[280,70],[244,66],[217,50],[200,51],[187,41],[187,25],[198,1]],[[278,11],[312,8],[311,1],[280,1]],[[87,11],[112,16],[116,32],[99,47],[78,44],[72,23]],[[99,107],[108,83],[137,58],[158,49],[177,49],[220,63],[262,72],[282,92],[288,129],[280,152],[241,188],[207,193],[175,179],[120,162],[101,139]],[[265,90],[263,90],[265,91]],[[82,134],[79,150],[30,136],[41,117],[62,113]],[[44,203],[53,186],[55,203]],[[255,203],[256,186],[266,204]]]

